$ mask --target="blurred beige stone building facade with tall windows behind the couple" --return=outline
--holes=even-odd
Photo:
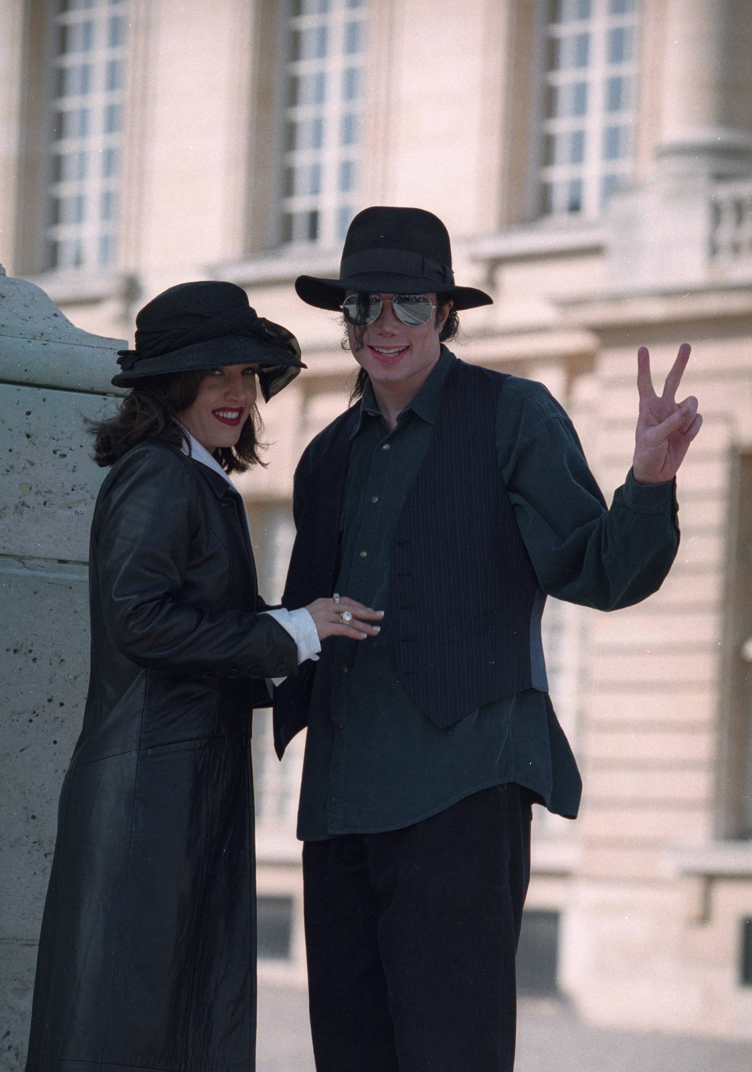
[[[346,405],[336,273],[369,204],[437,212],[459,356],[543,381],[608,500],[636,349],[705,426],[661,592],[549,602],[580,818],[535,809],[520,972],[602,1024],[752,1039],[752,5],[747,0],[0,0],[0,260],[109,338],[164,287],[228,279],[308,371],[263,412],[241,481],[267,598],[295,462]],[[303,742],[254,727],[262,971],[303,980]],[[521,954],[522,955],[522,954]]]

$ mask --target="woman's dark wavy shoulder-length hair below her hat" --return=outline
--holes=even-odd
[[[195,402],[207,375],[209,370],[202,369],[137,379],[114,417],[106,420],[85,418],[94,438],[91,457],[97,464],[112,465],[145,440],[172,443],[176,447],[187,443],[190,449],[190,441],[177,415]],[[215,457],[225,473],[245,473],[251,465],[266,464],[260,453],[266,447],[259,438],[262,431],[261,415],[253,406],[235,446],[219,447],[216,451]]]

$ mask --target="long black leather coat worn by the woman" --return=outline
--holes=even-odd
[[[259,613],[240,496],[166,445],[105,478],[89,587],[27,1070],[252,1070],[251,706],[296,645]]]

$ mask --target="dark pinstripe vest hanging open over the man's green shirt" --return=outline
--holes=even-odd
[[[394,534],[389,607],[397,672],[440,727],[521,689],[547,688],[541,645],[545,596],[499,475],[496,418],[505,378],[456,363]],[[287,608],[334,592],[350,436],[358,413],[359,404],[324,430],[321,461],[307,487],[298,488],[303,505],[282,597]],[[314,669],[305,662],[276,690],[279,755],[307,724]]]

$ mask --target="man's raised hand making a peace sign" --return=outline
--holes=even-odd
[[[683,402],[676,401],[676,392],[691,351],[688,342],[682,342],[679,346],[660,398],[650,376],[648,347],[640,346],[637,351],[639,417],[632,474],[638,483],[662,483],[675,477],[690,443],[703,423],[694,396],[690,394]]]

